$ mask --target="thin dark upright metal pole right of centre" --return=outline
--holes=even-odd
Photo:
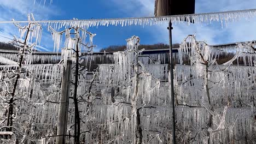
[[[175,105],[174,105],[174,88],[173,88],[173,61],[172,61],[172,22],[169,22],[169,43],[170,43],[170,73],[171,73],[171,98],[172,98],[172,143],[176,143],[176,134],[175,134]]]

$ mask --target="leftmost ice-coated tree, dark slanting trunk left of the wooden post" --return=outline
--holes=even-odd
[[[27,26],[21,26],[19,23],[14,22],[14,25],[19,28],[20,38],[16,38],[14,36],[14,40],[10,43],[13,43],[20,50],[20,53],[18,55],[19,63],[16,69],[11,70],[12,73],[7,74],[4,79],[1,80],[1,85],[5,86],[5,94],[1,95],[1,102],[3,105],[7,104],[7,117],[3,121],[6,122],[5,128],[7,128],[7,131],[13,131],[13,129],[19,131],[18,129],[13,127],[13,122],[18,116],[19,112],[19,106],[17,107],[16,105],[21,103],[20,101],[26,101],[26,99],[17,91],[19,91],[20,87],[26,87],[30,81],[29,77],[22,75],[22,73],[26,73],[26,71],[22,70],[22,65],[30,63],[30,57],[32,55],[33,47],[40,43],[40,35],[42,34],[41,26],[33,22],[33,14],[28,15],[28,21],[31,22],[28,23]],[[32,41],[34,42],[33,44],[31,43]]]

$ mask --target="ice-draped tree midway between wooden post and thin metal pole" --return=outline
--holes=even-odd
[[[135,36],[127,39],[126,50],[114,53],[115,64],[100,65],[100,81],[108,83],[106,88],[112,93],[107,110],[109,143],[162,143],[166,140],[168,130],[164,129],[168,127],[162,127],[164,123],[158,121],[158,117],[161,117],[159,109],[167,109],[168,93],[160,94],[160,80],[142,64],[141,60],[147,63],[146,58],[148,61],[154,58],[141,55],[143,49],[138,50],[139,41]],[[156,64],[154,68],[152,71],[161,67]],[[107,96],[106,91],[102,91],[102,95]]]

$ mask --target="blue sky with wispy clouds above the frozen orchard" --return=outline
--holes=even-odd
[[[101,19],[116,17],[153,16],[154,0],[1,0],[0,21],[26,20],[33,13],[36,20],[71,20]],[[182,8],[182,5],[180,6]],[[254,9],[255,0],[196,0],[196,13],[214,11]],[[181,43],[188,34],[196,34],[197,39],[208,44],[233,43],[236,41],[254,40],[256,34],[256,19],[230,22],[221,28],[220,23],[203,23],[174,25],[173,43]],[[141,44],[168,43],[167,23],[160,26],[109,26],[90,28],[96,33],[94,44],[97,50],[109,45],[124,45],[125,39],[132,35],[141,38]],[[18,30],[12,24],[0,24],[0,41],[8,41]],[[49,32],[44,31],[41,50],[51,51],[53,40]]]

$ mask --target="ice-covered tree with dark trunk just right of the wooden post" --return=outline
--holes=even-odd
[[[59,51],[59,47],[61,45],[61,35],[65,33],[65,47],[62,49],[62,58],[63,63],[67,63],[68,59],[73,61],[74,67],[73,67],[73,101],[74,101],[74,125],[71,127],[74,127],[74,143],[80,142],[80,135],[82,133],[85,133],[85,131],[81,131],[81,121],[83,121],[83,117],[80,115],[80,110],[83,109],[82,112],[88,112],[90,108],[90,100],[92,100],[93,97],[91,97],[91,91],[92,91],[92,85],[93,82],[96,79],[96,74],[94,74],[94,77],[91,80],[91,83],[88,88],[85,88],[85,81],[86,81],[86,74],[87,74],[87,66],[84,65],[83,61],[86,56],[90,56],[90,53],[92,53],[95,45],[92,43],[92,39],[95,37],[96,34],[92,34],[83,28],[80,28],[79,26],[71,27],[65,29],[65,31],[62,32],[56,32],[53,28],[51,28],[51,31],[53,32],[53,39],[54,39],[54,47],[57,51]],[[72,33],[72,31],[74,31]],[[85,44],[85,38],[86,35],[89,35],[89,43]],[[84,87],[83,87],[84,86]],[[81,103],[85,103],[81,105]],[[79,107],[80,106],[80,107]],[[83,113],[84,114],[84,113]],[[88,113],[86,113],[88,115]],[[84,115],[82,115],[84,116]],[[87,120],[86,120],[87,121]]]

